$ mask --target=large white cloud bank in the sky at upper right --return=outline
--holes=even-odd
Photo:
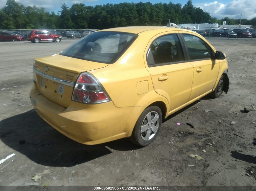
[[[251,19],[256,17],[256,1],[255,0],[232,0],[224,5],[217,1],[211,3],[195,4],[196,7],[202,8],[204,11],[211,14],[212,17],[218,19],[229,18],[242,18]]]

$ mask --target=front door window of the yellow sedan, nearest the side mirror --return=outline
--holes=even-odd
[[[190,34],[183,34],[183,37],[191,60],[212,58],[212,49],[206,42]]]

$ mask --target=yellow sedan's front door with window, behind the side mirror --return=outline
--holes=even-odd
[[[193,66],[192,100],[213,89],[217,80],[220,62],[215,60],[213,49],[204,41],[204,38],[194,33],[182,32],[183,40],[188,53],[188,59]]]

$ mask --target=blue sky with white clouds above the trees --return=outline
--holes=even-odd
[[[60,11],[61,4],[66,3],[69,7],[75,3],[84,3],[85,5],[98,5],[98,4],[107,4],[107,3],[121,3],[121,2],[151,2],[151,3],[168,3],[172,2],[174,4],[180,3],[185,5],[187,0],[161,0],[161,1],[152,1],[152,0],[16,0],[17,2],[22,3],[25,6],[44,7],[47,11]],[[251,19],[256,17],[256,0],[192,0],[192,3],[195,7],[200,7],[204,11],[211,14],[212,17],[218,19],[229,17],[229,18],[242,18]],[[6,0],[0,0],[0,8],[6,4]]]

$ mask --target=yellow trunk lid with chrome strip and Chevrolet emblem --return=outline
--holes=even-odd
[[[63,107],[68,107],[79,74],[107,65],[56,54],[35,59],[34,80],[43,96]]]

